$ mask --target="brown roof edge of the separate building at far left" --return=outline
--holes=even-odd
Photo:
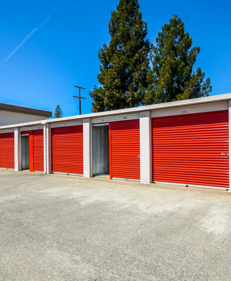
[[[7,103],[0,103],[0,111],[10,111],[23,114],[38,115],[42,117],[52,117],[52,111],[34,109],[23,106],[15,106]]]

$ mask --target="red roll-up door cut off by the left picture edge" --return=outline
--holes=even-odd
[[[14,169],[14,133],[0,134],[0,168]]]

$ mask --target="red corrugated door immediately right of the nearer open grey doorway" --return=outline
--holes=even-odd
[[[140,180],[140,120],[111,122],[113,178]]]

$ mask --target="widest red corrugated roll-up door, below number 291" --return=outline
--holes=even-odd
[[[153,181],[229,188],[228,110],[152,118]]]

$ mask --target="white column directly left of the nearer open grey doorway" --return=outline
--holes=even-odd
[[[91,118],[83,119],[83,176],[86,178],[92,178]]]

